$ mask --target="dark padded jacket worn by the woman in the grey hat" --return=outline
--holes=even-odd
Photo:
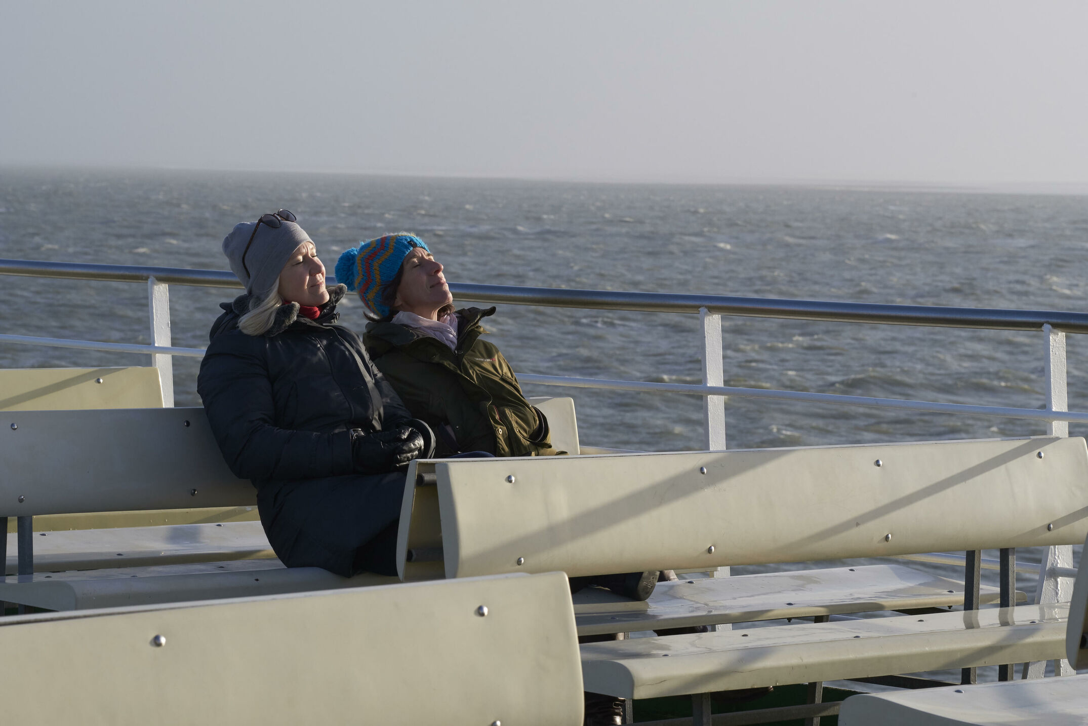
[[[242,295],[211,328],[197,392],[235,475],[274,480],[351,473],[350,429],[395,428],[408,409],[353,331],[333,322],[345,287],[330,288],[317,320],[284,305],[263,335],[246,335]]]

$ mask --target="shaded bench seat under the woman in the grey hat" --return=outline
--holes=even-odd
[[[341,577],[320,567],[287,569],[279,559],[238,559],[10,576],[0,580],[0,601],[70,611],[255,598],[398,581],[396,577],[371,573]]]

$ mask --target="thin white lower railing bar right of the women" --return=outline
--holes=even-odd
[[[691,385],[687,383],[610,381],[597,378],[568,378],[565,376],[536,376],[533,373],[518,373],[518,380],[522,383],[561,385],[574,389],[657,391],[659,393],[683,393],[695,396],[737,396],[738,398],[803,401],[812,404],[832,404],[837,406],[864,406],[866,408],[894,408],[929,411],[935,414],[965,414],[967,416],[1022,418],[1033,421],[1076,421],[1078,423],[1088,423],[1088,413],[1081,411],[1052,411],[1038,408],[1005,408],[1001,406],[970,406],[968,404],[939,404],[925,401],[904,401],[902,398],[844,396],[833,393],[807,393],[803,391],[777,391],[772,389],[738,389],[728,385]]]

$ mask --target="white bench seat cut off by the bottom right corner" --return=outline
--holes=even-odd
[[[839,726],[1084,726],[1088,675],[852,696]]]

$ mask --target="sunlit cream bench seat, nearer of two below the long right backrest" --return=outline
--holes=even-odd
[[[620,698],[1061,659],[1068,604],[900,615],[581,647],[586,691]]]

